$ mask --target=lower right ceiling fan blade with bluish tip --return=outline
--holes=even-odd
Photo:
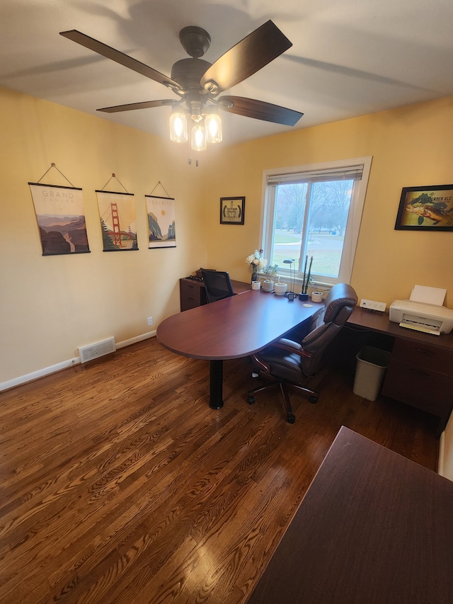
[[[304,115],[299,111],[286,109],[264,101],[256,101],[254,98],[244,98],[243,96],[221,96],[218,102],[219,107],[224,111],[229,111],[229,113],[264,120],[265,122],[275,122],[285,126],[294,126]]]

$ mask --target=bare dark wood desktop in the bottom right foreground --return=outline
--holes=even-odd
[[[341,428],[248,604],[453,602],[453,482]]]

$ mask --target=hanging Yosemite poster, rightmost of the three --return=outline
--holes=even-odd
[[[145,195],[147,200],[148,247],[176,247],[175,200]]]

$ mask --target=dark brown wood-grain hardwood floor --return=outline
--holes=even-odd
[[[155,338],[0,394],[0,602],[245,603],[340,426],[432,470],[436,422],[333,370],[290,425],[246,359]]]

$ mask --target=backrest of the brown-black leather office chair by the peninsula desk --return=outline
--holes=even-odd
[[[302,357],[302,371],[305,375],[314,375],[324,349],[348,321],[356,304],[357,294],[347,283],[337,283],[328,292],[324,311],[317,317],[316,326],[302,340],[304,351],[311,353],[309,358]]]

